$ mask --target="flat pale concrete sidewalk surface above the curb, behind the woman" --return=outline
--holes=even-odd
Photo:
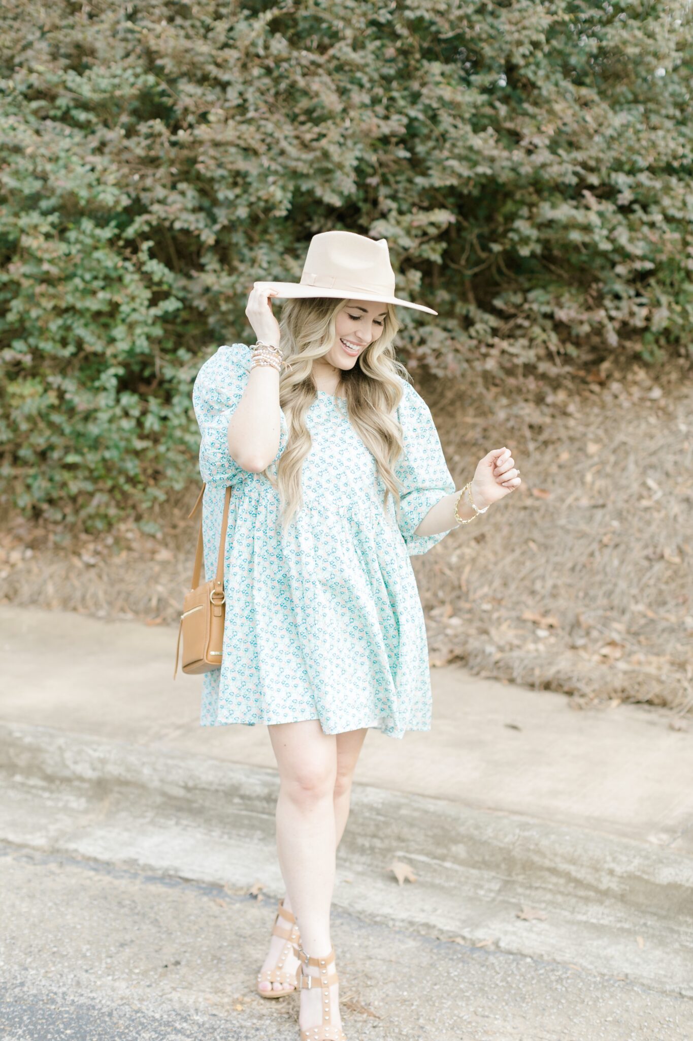
[[[0,721],[275,769],[266,727],[199,726],[201,677],[172,680],[177,631],[0,606]],[[693,855],[693,721],[431,671],[433,725],[369,732],[355,780]]]

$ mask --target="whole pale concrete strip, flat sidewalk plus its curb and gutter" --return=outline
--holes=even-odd
[[[2,607],[0,632],[0,840],[282,893],[266,728],[199,727],[174,630]],[[431,732],[366,740],[336,908],[693,996],[690,730],[432,682]]]

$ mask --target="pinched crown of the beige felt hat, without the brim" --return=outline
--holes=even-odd
[[[322,231],[308,248],[300,285],[359,293],[369,297],[395,295],[395,272],[387,238],[369,238],[353,231]]]

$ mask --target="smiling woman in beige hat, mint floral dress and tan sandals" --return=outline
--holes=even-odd
[[[366,734],[430,730],[409,556],[521,483],[502,448],[455,488],[393,347],[397,305],[436,312],[394,294],[384,239],[315,235],[299,283],[255,283],[245,313],[258,344],[219,348],[193,389],[207,575],[233,487],[222,662],[204,675],[201,722],[269,730],[288,895],[258,991],[300,988],[301,1041],[345,1038],[329,910]],[[274,298],[287,300],[279,322]]]

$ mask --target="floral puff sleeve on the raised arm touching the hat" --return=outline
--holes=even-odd
[[[250,348],[245,344],[220,347],[203,363],[192,387],[192,407],[199,427],[199,474],[212,486],[242,482],[249,474],[229,452],[229,421],[247,385]],[[289,439],[289,428],[279,409],[279,448],[276,462]]]

